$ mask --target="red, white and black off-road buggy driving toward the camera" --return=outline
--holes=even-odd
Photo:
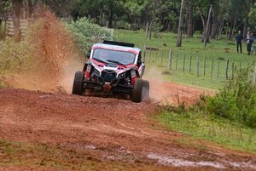
[[[149,96],[149,83],[143,80],[145,65],[140,48],[132,43],[104,41],[96,43],[88,55],[83,71],[75,73],[73,94],[86,91],[127,94],[130,100],[142,102]]]

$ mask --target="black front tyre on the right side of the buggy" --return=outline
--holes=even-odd
[[[136,78],[133,92],[131,94],[131,101],[140,103],[143,101],[144,81],[141,78]]]

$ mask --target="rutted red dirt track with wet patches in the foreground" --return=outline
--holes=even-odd
[[[166,84],[165,88],[172,86],[175,84]],[[183,88],[184,99],[186,90],[189,88]],[[177,88],[172,94],[176,91]],[[193,94],[187,92],[192,99]],[[129,100],[0,89],[0,140],[87,150],[103,161],[133,163],[139,158],[164,166],[164,170],[256,170],[254,155],[224,150],[203,140],[200,143],[208,150],[182,145],[178,141],[185,135],[148,119],[158,109],[153,101],[137,104]],[[0,166],[0,170],[12,169]]]

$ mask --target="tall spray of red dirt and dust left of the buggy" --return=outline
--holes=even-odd
[[[64,23],[48,9],[37,9],[24,41],[32,45],[31,68],[3,80],[12,88],[70,94],[75,71],[82,70],[83,55]]]

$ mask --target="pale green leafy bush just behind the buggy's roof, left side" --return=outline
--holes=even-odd
[[[70,24],[67,24],[67,29],[75,36],[83,54],[88,53],[93,43],[112,38],[108,29],[91,23],[87,18],[72,21]]]

